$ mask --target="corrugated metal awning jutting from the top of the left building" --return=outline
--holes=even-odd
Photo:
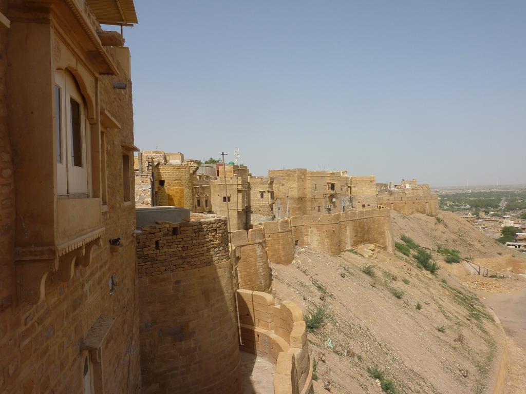
[[[102,25],[139,23],[133,0],[87,0],[87,2]]]

